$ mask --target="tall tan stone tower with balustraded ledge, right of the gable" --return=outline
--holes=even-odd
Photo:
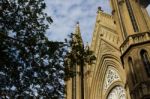
[[[131,99],[150,99],[149,0],[111,0]]]

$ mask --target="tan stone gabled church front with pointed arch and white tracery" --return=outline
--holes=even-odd
[[[120,56],[120,39],[112,15],[99,7],[93,33],[91,50],[97,57],[88,66],[88,97],[85,99],[130,99],[126,87],[126,75]],[[122,98],[119,98],[122,97]]]

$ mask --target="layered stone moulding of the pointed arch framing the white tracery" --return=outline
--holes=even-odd
[[[92,79],[92,84],[91,84],[91,97],[90,99],[97,99],[98,97],[100,97],[101,99],[105,99],[103,98],[104,95],[102,93],[103,90],[103,81],[105,79],[105,73],[107,71],[108,66],[112,66],[113,68],[118,70],[118,74],[121,75],[120,79],[121,82],[117,82],[121,85],[125,85],[125,73],[123,71],[121,62],[119,60],[119,56],[115,56],[113,54],[104,54],[101,57],[101,60],[99,60],[98,63],[98,67],[96,68],[96,71],[93,75],[93,79]]]

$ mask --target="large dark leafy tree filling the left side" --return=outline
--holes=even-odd
[[[63,97],[63,43],[49,41],[44,0],[0,0],[0,97]]]

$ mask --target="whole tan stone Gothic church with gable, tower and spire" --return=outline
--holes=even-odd
[[[97,11],[90,46],[95,64],[84,66],[83,86],[76,68],[66,81],[66,99],[150,99],[150,0],[110,4],[111,15]],[[79,25],[75,33],[80,35]]]

